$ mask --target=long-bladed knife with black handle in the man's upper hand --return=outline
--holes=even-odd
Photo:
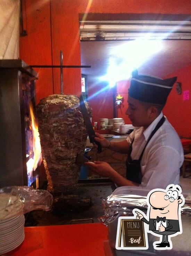
[[[86,127],[86,130],[88,132],[90,143],[92,143],[92,144],[95,143],[96,145],[98,145],[98,153],[101,153],[101,145],[98,141],[95,141],[95,139],[94,139],[95,138],[95,132],[94,132],[92,123],[90,121],[90,117],[89,117],[88,111],[86,109],[82,94],[80,95],[80,108],[81,108],[81,112],[82,112],[83,119],[84,119],[84,122],[85,122],[85,127]]]

